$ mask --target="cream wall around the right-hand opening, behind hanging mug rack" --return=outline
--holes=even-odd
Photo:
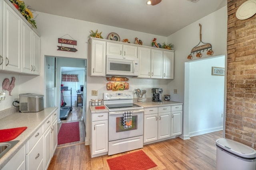
[[[213,12],[212,14],[209,14],[208,16],[184,27],[183,29],[180,29],[179,31],[170,35],[167,38],[168,42],[172,42],[172,44],[174,44],[175,50],[174,80],[170,80],[168,82],[167,92],[171,94],[171,100],[184,103],[184,139],[189,138],[189,108],[188,106],[186,106],[186,103],[188,103],[189,101],[184,100],[184,65],[186,62],[191,61],[187,59],[187,56],[190,54],[191,49],[198,45],[198,43],[200,42],[199,23],[202,25],[202,41],[204,43],[210,43],[212,45],[212,50],[214,51],[212,57],[220,55],[227,56],[227,6],[224,6],[220,10]],[[192,61],[198,60],[198,58],[195,55],[192,56]],[[202,55],[202,59],[209,57],[210,56],[207,56],[205,53],[203,53]],[[178,89],[178,94],[173,93],[174,89]]]

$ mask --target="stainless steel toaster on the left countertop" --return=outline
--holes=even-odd
[[[20,112],[38,112],[44,109],[44,95],[23,93],[20,96]]]

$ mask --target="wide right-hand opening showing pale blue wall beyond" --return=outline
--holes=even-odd
[[[187,139],[223,130],[225,76],[212,75],[212,67],[225,68],[225,55],[185,63],[184,135]]]

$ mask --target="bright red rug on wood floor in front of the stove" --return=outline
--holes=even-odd
[[[142,151],[107,159],[110,170],[148,170],[157,165]]]

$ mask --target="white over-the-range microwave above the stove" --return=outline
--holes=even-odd
[[[134,57],[106,56],[106,75],[138,76],[138,59]]]

